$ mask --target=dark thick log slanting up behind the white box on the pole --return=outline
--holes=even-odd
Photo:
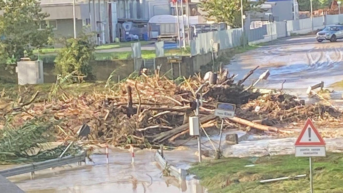
[[[209,114],[208,116],[205,116],[203,118],[200,119],[200,123],[206,123],[206,122],[209,122],[213,119],[215,119],[216,116],[214,114]],[[162,132],[162,133],[159,133],[159,134],[156,134],[156,135],[153,135],[153,136],[150,136],[148,138],[153,138],[153,142],[157,142],[157,143],[161,143],[162,141],[182,132],[182,131],[185,131],[185,130],[188,130],[189,129],[189,124],[183,124],[173,130],[170,130],[170,131],[165,131],[165,132]]]

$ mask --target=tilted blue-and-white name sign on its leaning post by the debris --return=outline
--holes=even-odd
[[[220,126],[220,134],[219,134],[218,152],[220,151],[220,144],[222,142],[224,118],[233,118],[235,116],[235,111],[236,111],[235,104],[224,103],[224,102],[218,102],[216,109],[214,110],[214,115],[222,119],[222,124]]]

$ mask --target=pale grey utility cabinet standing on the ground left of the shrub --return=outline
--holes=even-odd
[[[17,62],[15,72],[18,73],[18,84],[43,84],[43,61],[31,61],[29,58],[21,58],[22,61]]]

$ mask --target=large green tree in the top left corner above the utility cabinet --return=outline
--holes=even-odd
[[[49,16],[37,0],[0,0],[0,64],[15,63],[34,48],[46,46],[52,37],[49,28],[38,30]]]

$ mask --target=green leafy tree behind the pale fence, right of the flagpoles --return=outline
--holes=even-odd
[[[200,8],[207,12],[206,17],[215,19],[216,22],[225,22],[231,27],[241,27],[241,0],[201,0]],[[243,14],[249,11],[259,11],[258,5],[265,0],[243,0]]]

